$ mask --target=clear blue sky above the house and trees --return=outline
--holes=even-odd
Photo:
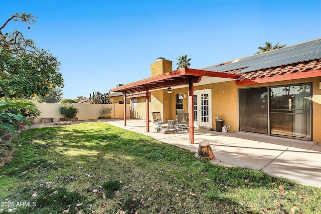
[[[150,76],[158,57],[187,54],[191,68],[250,56],[265,42],[294,45],[321,37],[321,1],[43,1],[2,0],[0,25],[13,13],[39,17],[10,23],[62,64],[64,98],[109,92]]]

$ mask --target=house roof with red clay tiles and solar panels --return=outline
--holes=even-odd
[[[205,67],[202,70],[242,75],[238,81],[321,71],[321,38]]]

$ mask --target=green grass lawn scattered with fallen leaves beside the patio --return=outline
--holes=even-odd
[[[13,144],[2,213],[321,213],[320,188],[102,122],[27,130]]]

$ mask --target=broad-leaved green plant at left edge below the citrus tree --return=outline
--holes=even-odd
[[[12,107],[34,105],[32,103],[10,103],[0,102],[0,129],[7,129],[12,135],[16,136],[16,130],[19,130],[18,122],[24,121],[31,126],[26,117],[21,114],[5,113],[4,110]]]

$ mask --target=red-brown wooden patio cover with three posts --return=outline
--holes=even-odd
[[[122,92],[124,95],[124,126],[126,126],[126,94],[146,91],[146,131],[149,132],[149,91],[157,89],[166,89],[174,86],[189,86],[189,114],[193,115],[194,105],[194,84],[199,83],[202,77],[211,78],[213,82],[236,80],[241,75],[227,74],[221,72],[197,70],[190,68],[183,68],[176,71],[160,74],[154,77],[142,79],[133,83],[129,83],[117,88],[110,89],[111,92]],[[194,117],[190,116],[190,124],[194,124]],[[190,125],[190,143],[194,143],[194,126]]]

